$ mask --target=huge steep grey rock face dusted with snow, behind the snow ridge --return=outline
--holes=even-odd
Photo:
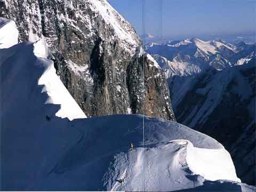
[[[1,3],[0,16],[17,23],[20,41],[45,39],[57,74],[88,117],[145,112],[174,119],[171,104],[165,99],[170,97],[161,69],[149,67],[145,62],[145,77],[160,74],[156,79],[161,80],[150,81],[145,86],[146,98],[150,92],[154,105],[147,104],[142,110],[140,106],[145,101],[140,98],[142,87],[137,87],[135,92],[129,88],[142,81],[130,73],[132,68],[143,70],[143,59],[134,58],[141,41],[130,23],[106,0]],[[132,78],[138,82],[129,80]],[[161,90],[162,87],[166,89]],[[152,113],[153,106],[156,112]]]

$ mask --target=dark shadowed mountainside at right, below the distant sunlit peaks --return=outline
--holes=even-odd
[[[170,90],[177,121],[223,143],[239,177],[255,185],[255,58],[223,71],[175,76]]]

